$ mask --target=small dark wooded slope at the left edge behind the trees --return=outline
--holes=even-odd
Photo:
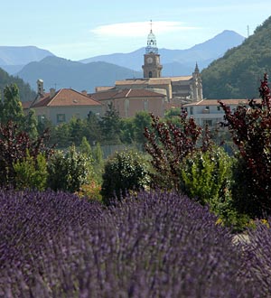
[[[16,84],[20,90],[21,101],[29,101],[35,98],[35,92],[29,84],[25,83],[23,79],[18,77],[10,76],[5,70],[0,68],[0,94],[3,98],[3,90],[7,85]]]

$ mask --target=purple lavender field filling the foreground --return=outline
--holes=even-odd
[[[270,297],[268,223],[241,245],[216,221],[174,193],[1,191],[0,297]]]

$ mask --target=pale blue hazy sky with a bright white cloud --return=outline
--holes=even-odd
[[[270,0],[2,0],[0,45],[35,45],[80,60],[146,45],[153,20],[158,48],[188,49],[223,30],[253,33]]]

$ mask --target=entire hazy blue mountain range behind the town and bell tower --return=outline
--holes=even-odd
[[[162,75],[190,75],[196,62],[202,70],[244,40],[238,33],[226,30],[187,50],[160,49]],[[36,47],[0,47],[0,68],[22,78],[33,89],[36,89],[37,79],[43,79],[45,89],[74,88],[93,92],[97,86],[114,85],[117,79],[141,78],[144,54],[145,48],[141,48],[130,53],[69,61]],[[16,68],[21,70],[14,72]]]

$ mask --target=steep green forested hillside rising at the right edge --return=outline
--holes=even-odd
[[[204,98],[257,98],[263,73],[271,70],[271,16],[241,45],[202,70]]]

